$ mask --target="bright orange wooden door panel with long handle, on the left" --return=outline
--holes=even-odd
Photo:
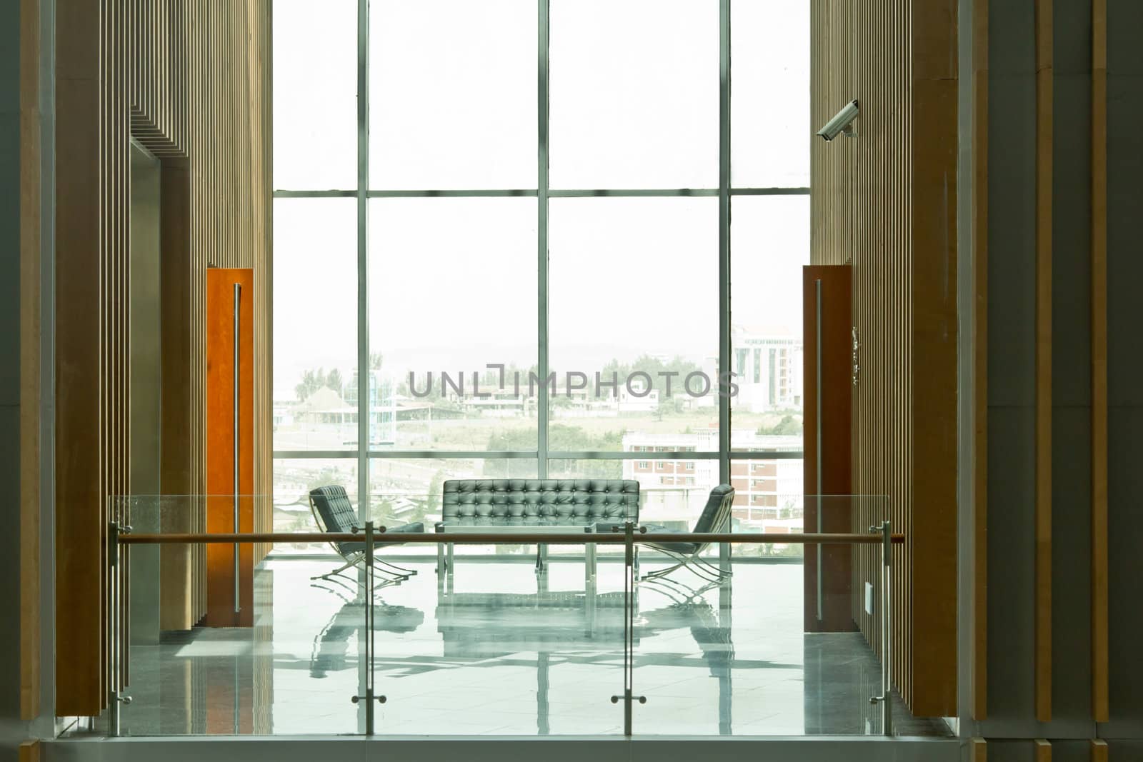
[[[234,334],[235,284],[239,327]],[[234,342],[238,342],[238,531],[254,531],[254,271],[207,270],[207,531],[234,531]],[[254,546],[207,545],[208,627],[254,625]]]

